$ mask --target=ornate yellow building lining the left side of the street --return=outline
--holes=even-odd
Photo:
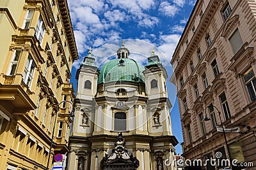
[[[67,1],[1,0],[0,31],[0,169],[46,169],[49,154],[51,169],[68,152],[71,104],[61,101],[74,99],[78,58]]]

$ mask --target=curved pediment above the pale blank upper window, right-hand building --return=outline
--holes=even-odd
[[[234,28],[236,27],[238,22],[239,22],[239,15],[235,15],[234,17],[227,20],[227,22],[223,27],[221,36],[223,36],[224,38],[227,38],[231,34],[231,32],[234,31]]]

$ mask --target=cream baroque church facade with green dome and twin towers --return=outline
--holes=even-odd
[[[99,69],[89,52],[77,70],[69,169],[176,169],[166,70],[129,55],[123,43]]]

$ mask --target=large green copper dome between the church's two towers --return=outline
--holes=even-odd
[[[144,82],[144,70],[145,68],[133,59],[110,60],[100,69],[98,84],[111,81]]]

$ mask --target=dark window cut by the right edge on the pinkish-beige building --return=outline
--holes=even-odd
[[[256,79],[252,68],[248,69],[248,71],[244,73],[244,83],[249,92],[251,101],[256,101]]]

